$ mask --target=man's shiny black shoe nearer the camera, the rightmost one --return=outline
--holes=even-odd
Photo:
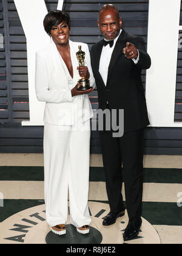
[[[126,230],[123,234],[124,241],[132,240],[133,238],[138,236],[140,232],[141,223],[141,219],[129,221],[129,224],[127,225]]]

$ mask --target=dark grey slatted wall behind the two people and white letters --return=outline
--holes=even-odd
[[[149,1],[147,0],[67,0],[64,9],[72,19],[73,41],[89,44],[101,40],[96,20],[101,5],[116,4],[127,32],[146,41]],[[45,0],[47,10],[54,10],[58,0]],[[182,21],[182,19],[181,19]],[[180,21],[180,23],[181,23]],[[4,48],[0,49],[0,152],[42,152],[43,127],[22,127],[29,120],[27,47],[24,31],[13,0],[0,0],[0,33]],[[146,74],[142,74],[145,89]],[[165,93],[165,92],[164,92]],[[182,121],[182,51],[178,54],[175,120]],[[98,107],[97,91],[90,95],[93,109]],[[162,99],[161,99],[162,101]],[[182,154],[182,128],[147,128],[146,154]],[[91,152],[100,153],[98,132],[92,132]]]

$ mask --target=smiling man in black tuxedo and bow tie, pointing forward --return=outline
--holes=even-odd
[[[143,137],[149,125],[141,70],[150,68],[150,57],[141,37],[121,29],[122,20],[115,5],[106,4],[99,11],[98,26],[104,40],[92,46],[91,61],[98,89],[99,108],[124,110],[124,135],[113,138],[112,130],[100,132],[106,189],[110,213],[108,226],[124,215],[122,181],[126,194],[129,224],[124,240],[138,235],[141,227],[143,194]],[[123,163],[123,178],[121,165]]]

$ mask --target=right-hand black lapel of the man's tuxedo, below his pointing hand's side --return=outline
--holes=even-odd
[[[121,51],[123,50],[124,46],[126,46],[126,31],[122,30],[120,37],[116,41],[115,49],[113,50],[112,57],[110,59],[109,69],[108,69],[108,76],[107,76],[107,85],[110,79],[110,75],[112,73],[112,69],[116,63],[116,60],[121,55]],[[106,86],[107,86],[106,85]]]

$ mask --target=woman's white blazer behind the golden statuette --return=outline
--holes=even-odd
[[[85,66],[88,66],[89,69],[90,85],[95,87],[87,44],[71,40],[69,40],[69,44],[73,65],[72,88],[81,79],[77,70],[79,64],[76,58],[79,45],[81,45],[82,51],[86,52]],[[87,94],[72,97],[72,88],[69,87],[68,83],[68,72],[53,40],[50,41],[47,47],[36,52],[35,90],[38,100],[46,102],[44,123],[69,126],[73,125],[74,115],[77,115],[78,112],[83,122],[93,116],[92,105]],[[77,112],[75,112],[75,106]]]

